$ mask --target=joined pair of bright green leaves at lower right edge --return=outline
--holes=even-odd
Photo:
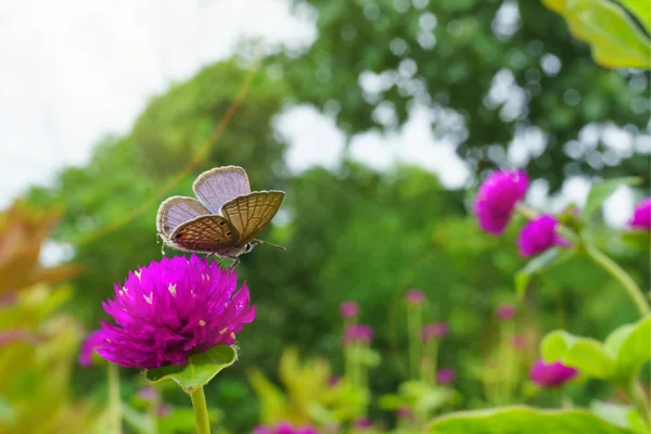
[[[617,328],[603,344],[557,330],[545,336],[540,352],[547,361],[561,361],[588,376],[628,387],[651,358],[649,342],[651,317]]]

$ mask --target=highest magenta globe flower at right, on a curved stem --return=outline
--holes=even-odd
[[[480,187],[474,215],[482,230],[500,235],[513,215],[518,202],[524,199],[528,177],[524,170],[500,170],[490,174]]]

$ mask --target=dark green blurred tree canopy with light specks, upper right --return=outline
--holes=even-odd
[[[640,175],[649,186],[644,155],[621,154],[608,164],[600,161],[607,151],[601,143],[595,152],[565,152],[577,148],[579,131],[591,123],[629,125],[634,136],[643,133],[648,76],[596,67],[589,47],[542,2],[508,2],[518,10],[511,24],[498,14],[507,3],[501,0],[295,2],[315,11],[319,37],[277,64],[296,101],[333,114],[347,133],[393,130],[420,106],[432,115],[434,137],[459,144],[458,154],[477,173],[510,165],[505,155],[511,142],[527,140],[523,131],[534,127],[546,148],[529,153],[526,169],[549,181],[552,192],[566,175],[580,174]],[[638,52],[641,47],[631,42]],[[512,76],[521,111],[487,98],[498,74]],[[362,77],[373,77],[373,89],[362,88]],[[395,120],[383,122],[380,111],[393,112]]]

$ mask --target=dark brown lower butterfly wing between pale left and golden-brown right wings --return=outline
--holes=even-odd
[[[169,235],[171,244],[196,253],[228,254],[238,243],[240,232],[225,217],[201,216],[179,225]]]

